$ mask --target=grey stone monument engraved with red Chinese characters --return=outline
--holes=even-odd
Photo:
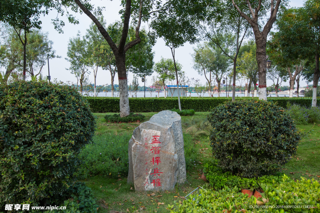
[[[129,141],[128,183],[135,190],[172,190],[186,180],[181,117],[164,110],[140,124]]]

